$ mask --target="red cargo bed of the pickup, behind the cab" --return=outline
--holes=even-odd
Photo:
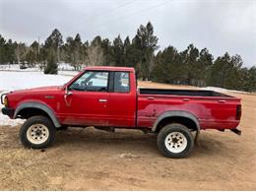
[[[138,125],[151,127],[166,111],[186,111],[199,120],[201,129],[233,129],[240,98],[203,90],[139,89]]]

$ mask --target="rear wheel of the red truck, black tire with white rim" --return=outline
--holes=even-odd
[[[160,129],[158,135],[158,147],[163,156],[180,159],[188,156],[192,151],[194,140],[186,126],[171,123]]]

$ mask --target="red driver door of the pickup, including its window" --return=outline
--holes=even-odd
[[[69,86],[65,124],[108,126],[108,79],[109,72],[86,71]]]

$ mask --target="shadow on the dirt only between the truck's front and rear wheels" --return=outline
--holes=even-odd
[[[115,133],[97,130],[94,128],[80,129],[69,128],[66,131],[58,131],[54,146],[70,145],[87,146],[94,145],[103,148],[112,146],[136,145],[137,148],[142,146],[155,146],[157,149],[157,135],[144,134],[139,130],[117,130]]]

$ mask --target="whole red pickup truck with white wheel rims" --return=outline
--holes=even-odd
[[[1,96],[2,113],[27,121],[20,130],[30,148],[52,144],[67,126],[140,129],[158,134],[160,153],[183,158],[194,146],[191,132],[230,129],[236,134],[240,99],[212,91],[137,89],[133,68],[87,67],[64,86]]]

